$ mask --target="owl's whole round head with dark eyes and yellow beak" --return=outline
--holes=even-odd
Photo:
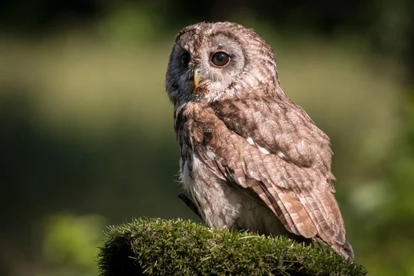
[[[174,103],[215,101],[247,90],[266,93],[275,86],[279,81],[273,51],[251,29],[230,22],[197,23],[175,39],[166,74],[166,90]]]

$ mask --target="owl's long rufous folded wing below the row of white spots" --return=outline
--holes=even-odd
[[[344,256],[352,256],[326,172],[312,164],[301,166],[290,161],[289,151],[284,151],[281,157],[270,147],[264,148],[265,144],[259,146],[253,137],[266,133],[266,126],[259,125],[264,122],[258,122],[256,130],[250,130],[252,136],[246,137],[244,132],[230,129],[228,121],[217,117],[216,109],[206,108],[198,113],[192,128],[193,146],[215,173],[221,172],[231,181],[253,190],[290,232],[314,238],[339,253],[344,251]],[[237,112],[233,112],[235,115]],[[249,127],[249,119],[233,117],[233,121],[237,119],[245,128]],[[290,143],[297,143],[295,136],[290,139]]]

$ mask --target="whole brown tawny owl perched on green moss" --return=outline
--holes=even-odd
[[[262,37],[230,22],[184,28],[166,91],[181,182],[207,226],[320,242],[353,259],[329,138],[286,96]]]

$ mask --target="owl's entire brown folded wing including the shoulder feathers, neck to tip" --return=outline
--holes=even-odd
[[[196,108],[195,151],[216,174],[253,190],[291,233],[352,257],[333,197],[328,138],[302,109],[265,101]]]

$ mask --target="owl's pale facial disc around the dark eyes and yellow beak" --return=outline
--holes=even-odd
[[[237,83],[247,56],[233,32],[190,27],[181,33],[168,63],[166,88],[176,100],[217,99]]]

